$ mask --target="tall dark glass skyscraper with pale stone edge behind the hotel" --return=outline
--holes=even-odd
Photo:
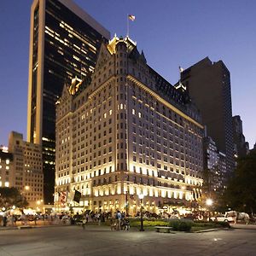
[[[109,32],[71,0],[32,3],[27,140],[43,145],[46,203],[54,192],[55,102],[65,83],[94,71],[97,49],[108,38]]]

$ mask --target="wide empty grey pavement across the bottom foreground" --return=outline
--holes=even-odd
[[[175,234],[111,231],[105,226],[0,230],[5,255],[255,255],[256,230]]]

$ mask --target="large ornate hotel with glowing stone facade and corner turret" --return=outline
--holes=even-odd
[[[83,82],[81,82],[83,83]],[[147,65],[130,38],[102,44],[84,90],[65,86],[56,106],[55,208],[133,215],[191,207],[201,196],[201,117]],[[81,193],[79,203],[61,191]]]

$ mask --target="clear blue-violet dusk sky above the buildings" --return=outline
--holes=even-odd
[[[233,115],[243,133],[256,142],[256,1],[247,0],[75,0],[111,35],[130,36],[143,49],[148,65],[172,84],[178,66],[209,56],[230,70]],[[3,0],[0,5],[0,144],[10,131],[26,139],[30,6],[32,0]]]

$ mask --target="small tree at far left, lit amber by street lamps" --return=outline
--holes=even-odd
[[[0,188],[0,208],[9,210],[11,207],[24,208],[28,206],[26,197],[20,195],[16,188]]]

